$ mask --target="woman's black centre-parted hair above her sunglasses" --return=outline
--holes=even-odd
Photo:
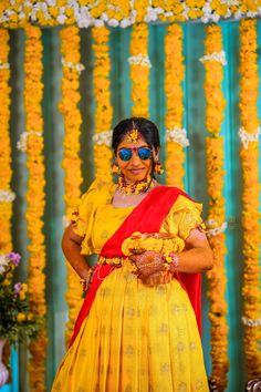
[[[113,130],[112,147],[116,153],[116,149],[124,140],[124,136],[132,130],[136,128],[145,140],[145,142],[154,147],[155,151],[160,147],[159,134],[157,126],[149,120],[143,117],[130,117],[122,120]]]

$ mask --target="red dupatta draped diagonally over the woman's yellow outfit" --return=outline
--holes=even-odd
[[[191,199],[181,189],[167,186],[157,186],[133,209],[114,235],[104,244],[101,255],[106,258],[124,257],[122,243],[134,231],[158,233],[160,226],[179,195]],[[75,322],[70,345],[75,340],[80,328],[85,320],[94,301],[96,291],[103,279],[115,268],[112,265],[100,265],[95,269],[92,285],[86,293],[84,303]],[[97,274],[98,272],[98,274]],[[177,279],[187,291],[197,318],[199,331],[201,330],[201,275],[179,274]]]

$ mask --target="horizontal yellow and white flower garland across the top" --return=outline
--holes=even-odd
[[[260,1],[225,0],[52,0],[0,2],[0,24],[4,28],[21,28],[30,23],[46,25],[76,24],[126,28],[135,22],[185,22],[201,19],[218,22],[220,18],[255,18],[260,16]]]

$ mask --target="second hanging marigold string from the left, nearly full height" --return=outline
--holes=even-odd
[[[29,250],[29,298],[31,312],[42,318],[43,324],[36,341],[30,343],[30,390],[45,391],[45,357],[46,357],[46,329],[45,329],[45,246],[43,215],[45,205],[44,194],[44,161],[43,161],[43,117],[42,117],[42,42],[41,30],[36,27],[25,29],[24,54],[24,107],[27,127],[27,223]]]

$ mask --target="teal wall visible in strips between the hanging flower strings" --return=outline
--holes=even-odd
[[[225,196],[227,208],[227,248],[226,269],[228,276],[227,301],[229,331],[229,386],[228,392],[243,391],[246,382],[243,363],[243,340],[241,300],[241,277],[242,277],[242,230],[241,230],[241,166],[239,159],[239,24],[238,22],[221,22],[223,32],[223,45],[227,52],[228,65],[225,66],[223,93],[227,100],[226,118],[222,125],[225,137],[225,168],[226,183]],[[199,62],[203,55],[205,25],[202,23],[184,24],[184,54],[186,63],[186,79],[184,82],[185,92],[185,115],[184,123],[187,128],[190,147],[186,151],[186,189],[191,197],[203,203],[203,217],[207,217],[208,196],[206,184],[205,163],[205,96],[203,79],[205,69]],[[258,21],[259,29],[259,64],[260,56],[260,33],[261,21]],[[153,63],[150,73],[150,118],[155,121],[160,130],[163,151],[161,159],[165,159],[165,114],[166,102],[164,93],[164,37],[166,25],[152,25],[149,28],[149,56]],[[83,115],[81,136],[81,158],[84,182],[82,190],[93,179],[93,152],[92,134],[94,132],[94,109],[95,102],[92,86],[92,71],[94,64],[91,48],[92,38],[90,30],[81,31],[82,62],[85,71],[81,74],[80,107]],[[113,29],[111,35],[111,59],[112,59],[112,104],[114,106],[113,124],[121,118],[130,115],[130,81],[128,48],[130,40],[130,29]],[[63,157],[63,118],[58,111],[58,103],[61,100],[61,54],[58,29],[43,30],[44,45],[44,138],[45,138],[45,168],[46,168],[46,208],[44,216],[44,233],[46,238],[46,299],[48,299],[48,376],[46,385],[50,390],[52,379],[64,353],[64,323],[67,317],[65,293],[65,265],[61,252],[62,217],[64,214],[63,203],[63,169],[61,161]],[[14,250],[23,256],[20,275],[27,277],[27,224],[25,190],[27,176],[25,156],[15,149],[19,135],[24,131],[23,111],[23,48],[24,33],[22,30],[11,31],[11,142],[12,142],[12,168],[14,176],[12,189],[17,193],[14,202],[13,237]],[[261,69],[259,66],[260,74]],[[261,82],[260,82],[261,83]],[[261,104],[259,100],[259,116],[261,115]],[[211,372],[210,345],[209,345],[209,321],[208,302],[206,299],[207,281],[203,280],[203,350],[208,373]],[[28,375],[25,370],[27,351],[20,350],[20,390],[28,390]]]

